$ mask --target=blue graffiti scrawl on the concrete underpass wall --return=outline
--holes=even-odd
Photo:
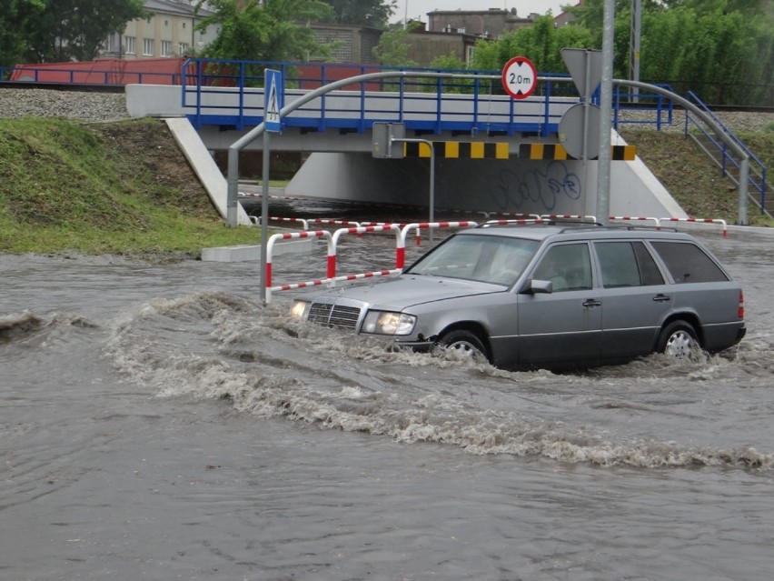
[[[502,169],[487,176],[486,191],[494,207],[502,211],[524,208],[534,212],[538,205],[546,213],[552,213],[562,202],[581,198],[581,179],[566,162],[525,165],[536,168],[523,172]]]

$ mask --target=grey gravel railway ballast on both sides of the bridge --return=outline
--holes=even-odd
[[[126,119],[126,97],[124,93],[98,93],[84,91],[56,91],[36,88],[0,87],[0,117],[69,117],[83,121],[114,121]],[[652,113],[624,112],[621,120],[638,119]],[[720,112],[719,119],[735,132],[763,131],[774,121],[770,113]],[[662,129],[682,131],[685,116],[676,110],[671,125]],[[627,128],[654,128],[655,125],[630,125]]]

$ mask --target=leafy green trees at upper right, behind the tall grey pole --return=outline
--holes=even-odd
[[[544,73],[567,69],[561,48],[600,48],[603,0],[570,8],[575,20],[554,29],[551,17],[480,40],[473,67],[501,70],[523,55]],[[616,0],[613,75],[629,76],[630,0]],[[772,0],[642,0],[640,79],[695,91],[714,105],[762,105],[774,82]]]

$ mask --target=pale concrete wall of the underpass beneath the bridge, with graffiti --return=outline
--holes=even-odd
[[[435,207],[439,212],[596,215],[596,185],[594,161],[584,168],[576,160],[436,159]],[[313,154],[285,193],[358,203],[427,205],[430,160]],[[639,159],[611,163],[610,214],[687,217]]]

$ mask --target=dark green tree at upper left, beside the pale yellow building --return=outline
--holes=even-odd
[[[38,62],[87,61],[104,39],[144,15],[143,0],[43,0],[45,9],[28,20],[29,50]]]

